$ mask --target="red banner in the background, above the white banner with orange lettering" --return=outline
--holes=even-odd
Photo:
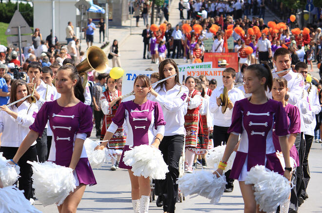
[[[225,59],[228,63],[227,67],[234,68],[238,72],[238,55],[237,53],[204,53],[204,62],[212,61],[213,68],[222,68],[219,64]]]

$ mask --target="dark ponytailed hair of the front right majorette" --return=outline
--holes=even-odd
[[[264,85],[264,89],[267,90],[269,89],[269,92],[272,90],[272,85],[273,85],[273,76],[271,69],[269,68],[267,62],[262,63],[262,64],[252,64],[249,65],[246,70],[251,70],[255,72],[255,75],[259,78],[266,78],[266,82]]]

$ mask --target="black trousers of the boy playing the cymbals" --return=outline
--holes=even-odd
[[[214,125],[214,131],[212,133],[213,140],[214,140],[214,147],[220,146],[220,145],[225,145],[227,144],[228,138],[229,138],[229,133],[227,133],[229,127],[224,127],[224,126],[216,126]],[[234,179],[229,178],[231,170],[228,170],[225,172],[226,176],[226,189],[234,189]]]

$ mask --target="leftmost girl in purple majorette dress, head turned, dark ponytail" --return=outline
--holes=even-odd
[[[74,66],[63,65],[60,67],[55,85],[61,97],[42,105],[35,122],[29,127],[28,135],[23,139],[12,160],[19,161],[37,137],[41,136],[49,120],[56,147],[55,162],[57,165],[72,168],[76,179],[76,189],[58,206],[58,210],[60,213],[76,213],[86,185],[96,184],[83,147],[84,140],[92,132],[93,115],[91,107],[83,103],[85,100],[83,87]]]

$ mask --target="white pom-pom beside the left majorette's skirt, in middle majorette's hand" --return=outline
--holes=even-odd
[[[86,155],[88,157],[89,164],[93,169],[101,168],[101,166],[105,162],[106,148],[104,148],[103,150],[100,150],[100,149],[95,150],[95,148],[99,145],[100,145],[99,141],[94,141],[89,138],[86,138],[86,140],[84,141]]]

